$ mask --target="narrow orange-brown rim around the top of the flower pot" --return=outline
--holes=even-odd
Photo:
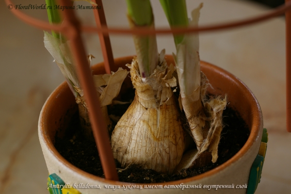
[[[172,57],[170,55],[166,55],[168,57]],[[118,60],[132,60],[133,56],[127,56],[127,57],[119,57],[114,59],[115,61]],[[232,163],[234,163],[235,161],[239,160],[241,158],[241,156],[243,156],[244,154],[247,153],[247,151],[251,148],[251,146],[253,145],[253,143],[258,139],[258,134],[259,134],[259,130],[262,127],[262,113],[261,113],[261,109],[259,106],[259,102],[257,101],[256,97],[254,96],[254,94],[251,92],[251,90],[244,84],[242,83],[242,81],[240,79],[238,79],[236,76],[232,75],[231,73],[229,73],[228,71],[223,70],[222,68],[219,68],[215,65],[212,65],[210,63],[201,61],[201,63],[204,65],[204,67],[206,68],[211,68],[213,71],[219,72],[220,74],[224,74],[226,75],[228,78],[230,78],[231,80],[233,80],[237,85],[239,85],[240,88],[243,88],[244,91],[246,92],[246,97],[248,98],[248,100],[251,101],[251,107],[252,107],[252,118],[253,118],[253,125],[251,126],[251,132],[250,132],[250,136],[247,139],[246,143],[243,145],[242,149],[236,153],[231,159],[227,160],[225,163],[219,165],[218,167],[197,175],[197,176],[193,176],[193,177],[189,177],[189,178],[185,178],[185,179],[180,179],[180,180],[176,180],[176,181],[170,181],[170,182],[162,182],[162,183],[128,183],[128,182],[120,182],[120,181],[113,181],[113,180],[107,180],[105,178],[101,178],[99,176],[95,176],[92,174],[89,174],[81,169],[79,169],[78,167],[74,166],[73,164],[69,163],[54,147],[52,141],[50,141],[49,135],[41,130],[40,131],[40,135],[43,136],[43,139],[47,145],[47,147],[49,148],[49,152],[51,152],[53,155],[55,155],[55,157],[61,162],[63,163],[68,169],[77,172],[78,174],[80,174],[81,176],[85,176],[87,178],[91,178],[93,180],[97,180],[100,182],[103,182],[104,184],[114,184],[114,185],[125,185],[125,184],[135,184],[135,185],[178,185],[180,183],[188,183],[194,180],[198,180],[198,179],[202,179],[202,178],[206,178],[208,176],[214,175],[219,173],[220,171],[224,170],[226,167],[230,166]],[[102,63],[98,63],[98,65],[101,65]],[[46,101],[46,103],[44,104],[42,110],[41,110],[41,114],[40,114],[40,119],[39,119],[39,123],[44,123],[46,122],[46,109],[47,106],[49,106],[50,103],[52,103],[53,101],[53,96],[57,97],[59,95],[59,93],[64,90],[64,88],[68,87],[66,82],[63,82],[59,87],[57,87],[49,96],[48,100]],[[41,125],[41,124],[40,124]],[[41,127],[42,128],[42,127]]]

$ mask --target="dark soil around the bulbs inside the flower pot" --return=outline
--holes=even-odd
[[[129,104],[109,108],[109,114],[121,116]],[[87,141],[80,133],[78,112],[72,118],[63,139],[56,138],[55,147],[60,154],[73,165],[90,174],[104,177],[95,142]],[[119,181],[132,183],[158,183],[174,181],[205,173],[233,157],[244,145],[249,136],[249,128],[240,115],[230,107],[223,113],[224,128],[218,148],[218,160],[210,165],[184,169],[177,175],[160,174],[153,170],[143,169],[137,165],[130,165],[123,170],[116,161]]]

